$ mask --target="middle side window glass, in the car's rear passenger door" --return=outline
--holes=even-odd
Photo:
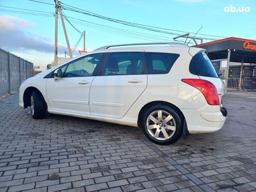
[[[103,75],[137,75],[142,74],[141,52],[117,52],[110,55]]]

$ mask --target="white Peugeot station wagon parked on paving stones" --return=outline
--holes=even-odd
[[[25,80],[19,105],[35,119],[49,112],[142,127],[162,145],[212,133],[227,111],[205,52],[181,43],[104,46]]]

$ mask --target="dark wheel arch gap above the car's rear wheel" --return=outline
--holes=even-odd
[[[173,109],[175,109],[180,114],[182,120],[185,119],[183,113],[181,112],[179,107],[177,107],[176,105],[174,105],[172,103],[169,103],[169,102],[166,102],[166,101],[152,101],[152,102],[149,102],[149,103],[145,104],[142,107],[142,109],[139,111],[139,113],[138,113],[138,120],[137,120],[138,126],[141,125],[141,119],[142,119],[143,112],[145,112],[149,107],[157,105],[157,104],[162,104],[162,105],[167,105],[167,106],[172,107]]]

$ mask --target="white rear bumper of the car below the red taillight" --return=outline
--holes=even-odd
[[[200,109],[182,109],[190,134],[213,133],[223,127],[226,109],[223,107],[225,110],[207,112],[207,108],[203,106]]]

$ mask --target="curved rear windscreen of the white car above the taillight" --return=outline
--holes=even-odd
[[[193,56],[189,65],[189,71],[191,74],[198,76],[218,77],[212,62],[204,52]]]

